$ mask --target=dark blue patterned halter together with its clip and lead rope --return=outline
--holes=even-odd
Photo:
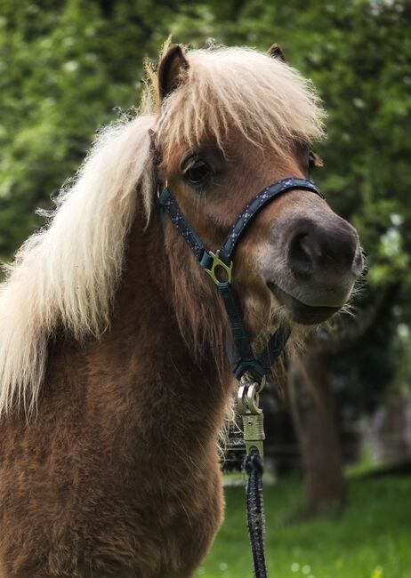
[[[263,189],[246,205],[230,229],[228,237],[215,253],[207,249],[191,227],[173,195],[165,186],[158,197],[158,205],[167,213],[174,227],[181,233],[196,256],[200,266],[213,279],[222,295],[225,309],[230,319],[232,345],[228,350],[230,364],[235,377],[240,381],[238,388],[238,411],[243,419],[246,459],[244,468],[247,474],[247,521],[251,550],[254,562],[254,577],[267,578],[265,565],[262,505],[262,442],[265,438],[263,414],[259,405],[259,395],[264,386],[267,373],[286,345],[290,336],[288,325],[281,325],[270,336],[260,357],[255,357],[250,336],[246,330],[244,316],[231,278],[233,272],[233,254],[239,239],[244,235],[251,221],[265,205],[289,190],[308,190],[324,198],[311,181],[291,177],[277,181]],[[224,280],[221,276],[223,275]],[[220,278],[219,278],[220,277]]]

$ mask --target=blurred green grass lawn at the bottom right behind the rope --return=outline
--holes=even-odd
[[[411,478],[349,482],[340,518],[287,525],[302,503],[302,486],[281,481],[265,489],[270,578],[411,578]],[[245,492],[226,489],[224,526],[199,569],[201,578],[252,578]]]

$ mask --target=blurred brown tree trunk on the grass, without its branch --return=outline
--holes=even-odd
[[[342,510],[341,446],[326,356],[309,351],[306,357],[292,360],[288,396],[304,467],[307,503],[303,513]]]

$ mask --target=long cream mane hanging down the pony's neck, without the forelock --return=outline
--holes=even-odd
[[[152,196],[149,128],[139,116],[101,132],[49,227],[21,247],[0,289],[0,413],[36,404],[47,341],[58,325],[77,340],[100,335],[124,265],[136,189]]]

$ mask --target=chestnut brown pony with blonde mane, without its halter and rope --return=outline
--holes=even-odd
[[[168,46],[137,116],[102,130],[0,290],[0,576],[189,578],[222,523],[228,319],[157,189],[216,247],[254,193],[307,177],[315,89],[278,56]],[[318,164],[318,163],[317,163]],[[355,229],[289,191],[238,246],[254,346],[350,297]]]

